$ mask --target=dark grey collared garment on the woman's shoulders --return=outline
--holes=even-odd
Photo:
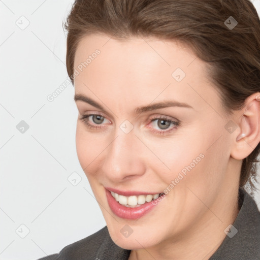
[[[209,260],[260,260],[260,212],[243,189],[239,189],[239,208],[233,223],[237,233],[231,228],[231,233],[228,233],[231,235],[225,236]],[[104,226],[98,232],[67,245],[59,253],[38,260],[127,260],[130,252],[117,246]]]

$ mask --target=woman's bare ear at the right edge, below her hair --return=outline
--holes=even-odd
[[[236,115],[233,120],[236,121],[238,130],[234,135],[231,156],[241,160],[246,158],[260,141],[260,92],[248,96],[244,107]]]

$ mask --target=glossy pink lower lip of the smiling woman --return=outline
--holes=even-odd
[[[154,205],[151,202],[146,202],[143,205],[136,207],[136,208],[128,208],[121,205],[119,202],[115,200],[112,196],[111,192],[106,189],[106,195],[108,199],[108,205],[110,206],[111,210],[115,215],[120,218],[125,219],[138,219],[148,213],[153,207],[158,205],[158,202]]]

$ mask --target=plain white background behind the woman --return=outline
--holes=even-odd
[[[58,253],[106,225],[77,158],[74,87],[47,100],[68,79],[61,23],[72,3],[0,1],[1,260]],[[260,1],[253,4],[259,13]]]

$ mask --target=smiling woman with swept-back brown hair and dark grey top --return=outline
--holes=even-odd
[[[65,28],[77,154],[107,225],[42,259],[260,259],[253,5],[79,0]]]

